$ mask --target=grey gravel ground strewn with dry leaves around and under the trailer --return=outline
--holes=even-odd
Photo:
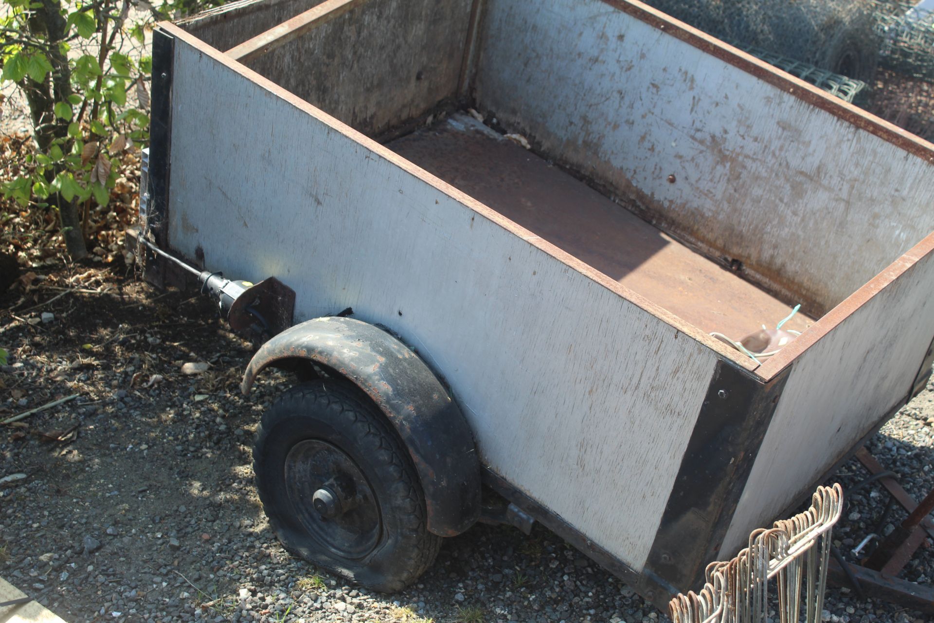
[[[190,292],[152,290],[122,268],[36,272],[25,296],[0,294],[11,356],[0,418],[80,396],[0,431],[0,477],[26,474],[0,486],[0,575],[66,621],[666,620],[540,527],[530,538],[478,525],[446,540],[419,583],[394,595],[291,559],[262,515],[250,458],[260,413],[288,377],[261,377],[242,397],[251,348]],[[65,291],[56,288],[90,291],[29,309]],[[182,375],[189,361],[211,367]],[[931,389],[870,442],[916,498],[934,487]],[[838,474],[844,487],[863,476],[855,462]],[[849,500],[835,532],[843,550],[873,530],[883,506],[879,487]],[[930,552],[906,577],[929,582]],[[927,620],[846,589],[828,589],[825,610],[847,623]]]

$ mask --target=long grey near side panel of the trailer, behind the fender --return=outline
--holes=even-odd
[[[398,332],[450,383],[484,464],[642,569],[715,370],[707,338],[166,29],[171,248],[278,277],[299,321],[352,306]]]

